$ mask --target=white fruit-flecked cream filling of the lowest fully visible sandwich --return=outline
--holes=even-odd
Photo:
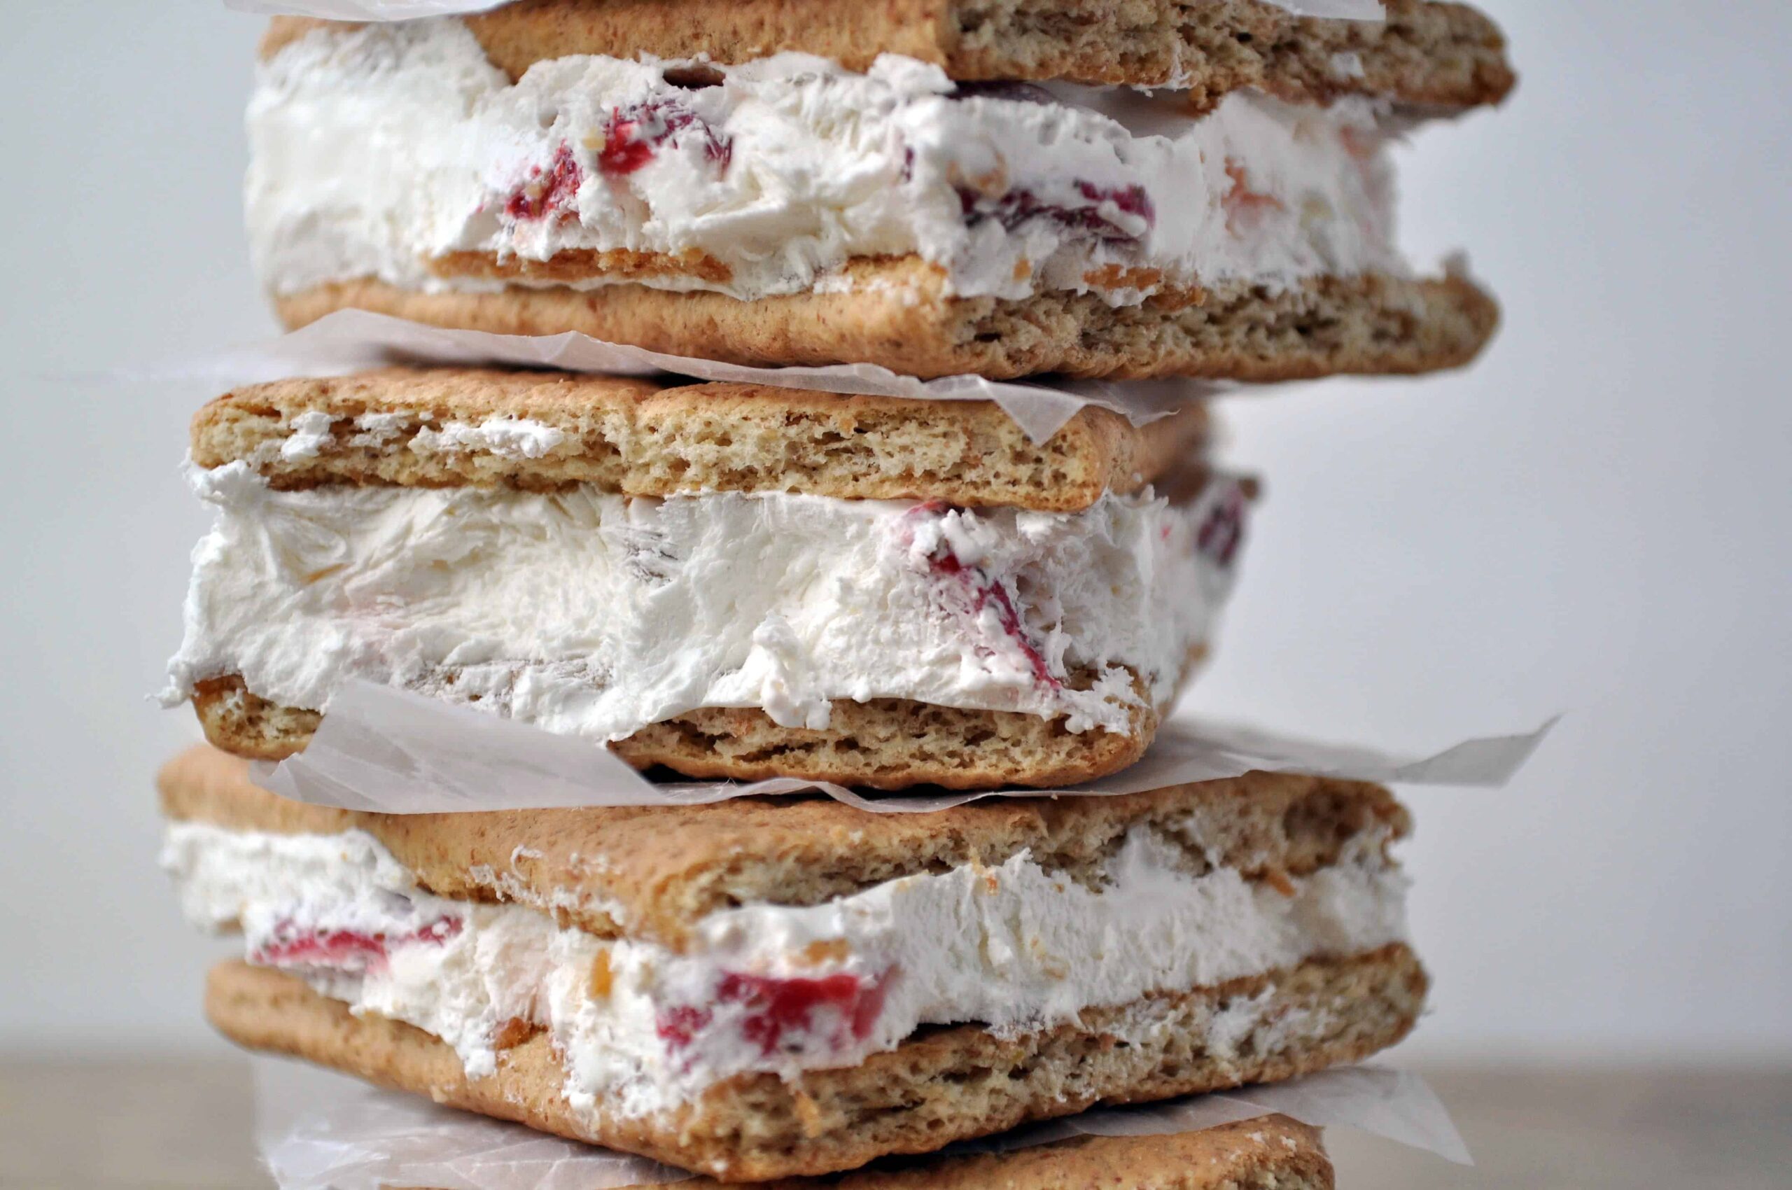
[[[855,1066],[921,1025],[1048,1029],[1401,941],[1407,880],[1383,844],[1360,835],[1278,891],[1138,826],[1093,889],[1020,853],[824,905],[720,910],[683,950],[432,896],[362,832],[174,824],[163,866],[197,925],[240,923],[251,962],[443,1038],[473,1075],[496,1068],[505,1022],[530,1022],[564,1056],[575,1108],[642,1115],[744,1072]],[[1140,1007],[1122,1032],[1154,1025]],[[1262,1007],[1222,1004],[1215,1045],[1260,1029]]]

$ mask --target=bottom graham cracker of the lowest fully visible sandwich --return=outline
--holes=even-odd
[[[1172,1099],[1358,1061],[1412,1029],[1425,987],[1417,959],[1392,944],[1091,1009],[1077,1023],[1038,1032],[934,1029],[860,1066],[790,1079],[740,1075],[692,1104],[634,1118],[602,1104],[595,1113],[573,1111],[561,1091],[564,1066],[545,1032],[504,1050],[496,1074],[473,1079],[439,1039],[378,1016],[357,1018],[296,977],[242,962],[213,968],[206,1014],[249,1048],[724,1181],[769,1181],[932,1152],[1098,1102]],[[1258,1023],[1222,1043],[1211,1025],[1242,1004]]]

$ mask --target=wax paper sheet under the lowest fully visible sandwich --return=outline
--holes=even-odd
[[[1425,1081],[1374,1065],[1147,1108],[1097,1109],[944,1152],[1011,1152],[1079,1134],[1167,1136],[1271,1113],[1469,1161],[1450,1113]],[[256,1117],[262,1160],[280,1190],[620,1190],[692,1177],[645,1158],[274,1059],[256,1059]]]

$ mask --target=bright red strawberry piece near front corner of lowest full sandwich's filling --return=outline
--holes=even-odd
[[[817,1039],[828,1048],[844,1050],[871,1036],[883,1013],[891,975],[892,971],[885,971],[867,980],[848,971],[823,977],[729,971],[717,984],[715,1005],[745,1009],[737,1027],[762,1056],[769,1057],[787,1047],[801,1048]],[[688,1048],[713,1020],[713,1007],[681,1004],[659,1011],[654,1032],[676,1054]]]

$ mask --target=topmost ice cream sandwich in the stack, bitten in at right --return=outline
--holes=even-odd
[[[919,376],[1271,382],[1421,373],[1480,349],[1493,299],[1455,272],[1419,276],[1394,238],[1387,145],[1412,109],[1391,97],[1434,88],[1403,95],[1383,79],[1398,68],[1371,75],[1367,61],[1491,77],[1482,18],[1439,4],[1400,4],[1387,23],[1269,4],[1068,7],[570,0],[280,23],[249,108],[256,271],[292,326],[367,308]],[[1183,73],[1127,79],[1206,79],[1224,91],[1210,109],[1186,91],[1012,81],[1059,65],[1106,77],[1100,54],[1134,59],[1100,30],[1134,20],[1170,39],[1229,29],[1201,34],[1224,50],[1156,54]],[[941,32],[953,22],[977,27]],[[1004,41],[1004,22],[1100,52],[966,65],[964,43]],[[1480,65],[1401,32],[1453,22],[1477,29]],[[1328,61],[1349,66],[1337,86],[1281,72],[1287,86],[1256,90],[1249,63],[1283,32],[1335,47]],[[797,52],[848,41],[848,65]],[[1201,65],[1222,59],[1236,73]]]

